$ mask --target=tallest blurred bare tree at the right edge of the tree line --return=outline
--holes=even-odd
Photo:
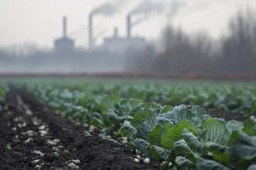
[[[254,73],[256,19],[250,9],[241,10],[230,21],[230,35],[223,41],[223,57],[231,73]]]

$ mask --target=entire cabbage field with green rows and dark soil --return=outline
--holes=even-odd
[[[16,80],[0,100],[1,169],[256,168],[254,83]]]

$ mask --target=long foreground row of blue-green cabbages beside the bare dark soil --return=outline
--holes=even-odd
[[[144,158],[172,169],[256,168],[256,119],[224,121],[198,106],[144,103],[140,99],[80,90],[26,86],[64,117],[127,137]]]

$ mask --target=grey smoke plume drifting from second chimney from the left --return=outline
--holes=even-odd
[[[106,2],[98,6],[97,8],[93,9],[91,14],[92,15],[113,15],[116,12],[119,12],[119,9],[126,4],[127,1],[125,0],[115,0],[113,2]]]

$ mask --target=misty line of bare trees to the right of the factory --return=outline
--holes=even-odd
[[[228,25],[229,34],[214,41],[205,32],[193,36],[167,26],[161,36],[161,52],[147,46],[137,53],[137,70],[166,75],[256,76],[256,18],[241,10]]]

